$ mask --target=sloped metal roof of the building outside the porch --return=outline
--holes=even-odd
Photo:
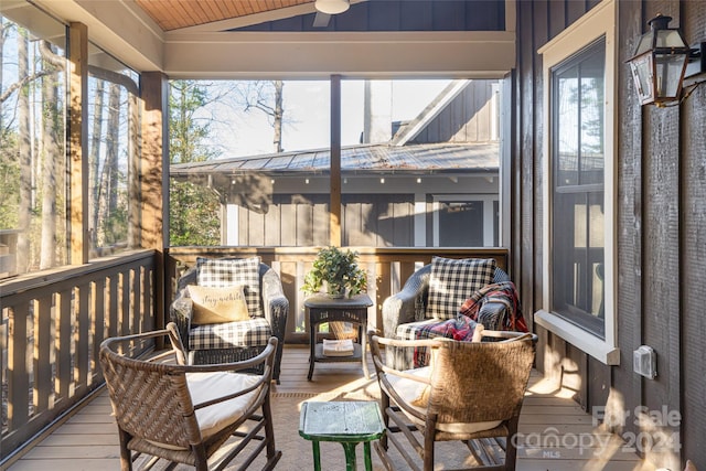
[[[500,146],[488,143],[359,144],[341,149],[343,173],[496,172]],[[329,149],[271,153],[247,158],[178,163],[172,176],[243,173],[329,173]]]

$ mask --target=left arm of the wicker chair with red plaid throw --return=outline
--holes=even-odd
[[[403,289],[383,302],[383,335],[396,338],[397,327],[424,319],[426,299],[429,292],[431,266],[426,265],[415,271]]]

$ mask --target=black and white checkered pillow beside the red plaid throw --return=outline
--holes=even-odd
[[[454,319],[459,308],[477,290],[493,281],[493,258],[431,259],[427,318]]]

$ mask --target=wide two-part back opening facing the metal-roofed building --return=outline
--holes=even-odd
[[[496,246],[499,95],[341,79],[342,245]],[[173,81],[171,245],[328,245],[330,96],[330,81]]]

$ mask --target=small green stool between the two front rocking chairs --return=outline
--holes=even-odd
[[[362,442],[365,470],[372,471],[371,441],[379,439],[383,430],[383,415],[374,402],[307,402],[301,406],[299,435],[311,440],[315,471],[321,471],[320,441],[343,446],[346,471],[355,471],[355,446]]]

